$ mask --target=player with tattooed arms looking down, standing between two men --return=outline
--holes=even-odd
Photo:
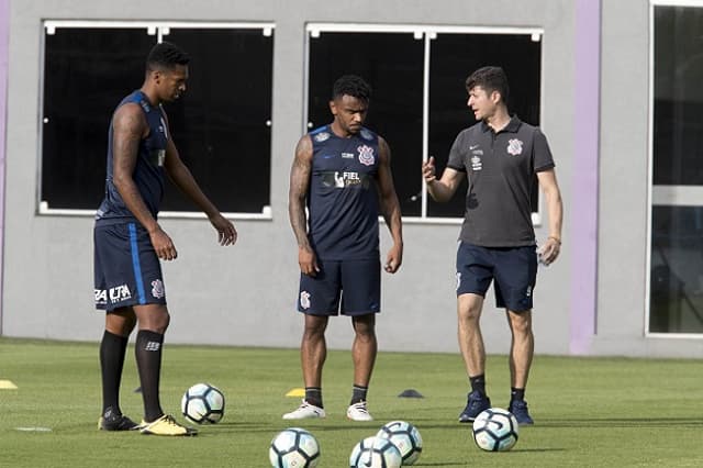
[[[339,312],[352,316],[355,331],[347,417],[372,420],[366,399],[377,354],[376,313],[381,303],[379,211],[393,238],[384,265],[390,274],[402,263],[403,237],[390,148],[364,126],[370,94],[361,78],[341,77],[330,101],[334,121],[304,135],[295,148],[289,214],[301,272],[298,310],[305,320],[300,347],[305,398],[297,410],[283,415],[286,420],[325,416],[325,328],[330,316]]]

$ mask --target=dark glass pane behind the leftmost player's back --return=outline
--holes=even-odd
[[[66,29],[45,36],[42,200],[96,210],[114,107],[142,86],[155,44],[144,29]]]

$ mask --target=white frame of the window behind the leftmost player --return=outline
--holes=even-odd
[[[94,216],[96,210],[69,209],[69,208],[51,208],[48,201],[42,200],[42,177],[43,177],[43,158],[44,158],[44,85],[45,85],[45,60],[46,60],[46,36],[52,35],[57,29],[133,29],[146,30],[148,36],[154,36],[154,44],[160,43],[168,37],[170,30],[176,29],[203,29],[203,30],[261,30],[261,34],[270,36],[276,30],[274,22],[201,22],[201,21],[103,21],[103,20],[44,20],[42,21],[42,36],[40,45],[40,97],[37,112],[37,174],[35,187],[35,207],[37,215],[57,215],[57,216]],[[271,51],[271,60],[275,51]],[[271,88],[271,96],[274,89]],[[272,112],[272,110],[271,110]],[[269,121],[268,125],[272,123]],[[271,138],[272,140],[272,138]],[[272,153],[269,154],[272,163]],[[272,167],[272,165],[271,165]],[[269,179],[271,174],[269,172]],[[270,193],[269,193],[270,203]],[[264,205],[260,213],[247,212],[222,212],[222,215],[231,220],[272,220],[270,205]],[[159,219],[207,219],[208,216],[200,211],[159,211]]]

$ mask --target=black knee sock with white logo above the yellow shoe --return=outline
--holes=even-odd
[[[164,415],[158,395],[163,344],[164,335],[160,333],[141,330],[136,335],[135,355],[144,399],[144,421],[149,423]]]

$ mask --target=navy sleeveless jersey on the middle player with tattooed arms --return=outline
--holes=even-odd
[[[378,135],[368,129],[348,138],[330,125],[310,132],[308,191],[310,243],[323,260],[379,257]]]

